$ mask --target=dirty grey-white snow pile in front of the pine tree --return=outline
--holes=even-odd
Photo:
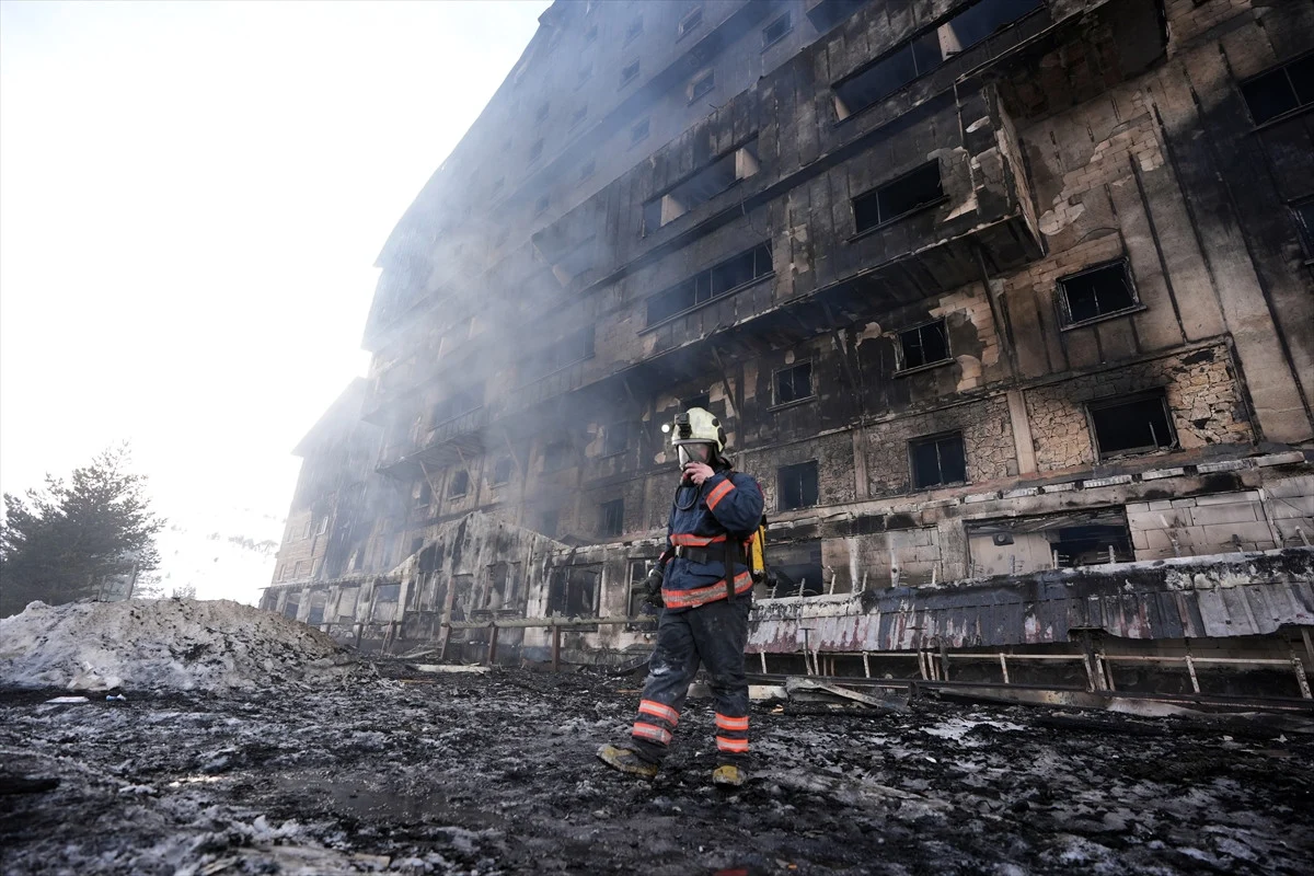
[[[32,603],[0,620],[0,687],[258,688],[353,665],[319,630],[229,600]]]

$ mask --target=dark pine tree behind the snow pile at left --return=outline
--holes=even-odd
[[[96,596],[109,575],[159,566],[146,478],[127,470],[127,445],[75,469],[68,482],[46,475],[43,490],[4,494],[0,521],[0,616],[32,600],[62,604]]]

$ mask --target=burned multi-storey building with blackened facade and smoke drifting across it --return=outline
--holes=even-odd
[[[378,257],[265,605],[641,647],[602,621],[699,405],[796,582],[757,594],[763,666],[1314,661],[1311,49],[1307,3],[557,0]]]

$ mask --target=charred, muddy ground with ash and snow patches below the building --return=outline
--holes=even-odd
[[[388,674],[388,670],[384,670]],[[712,788],[691,701],[654,783],[606,771],[635,679],[502,670],[335,690],[0,695],[9,873],[1298,873],[1314,739],[1254,722],[754,705]],[[778,707],[775,707],[778,709]],[[49,783],[47,783],[49,784]]]

